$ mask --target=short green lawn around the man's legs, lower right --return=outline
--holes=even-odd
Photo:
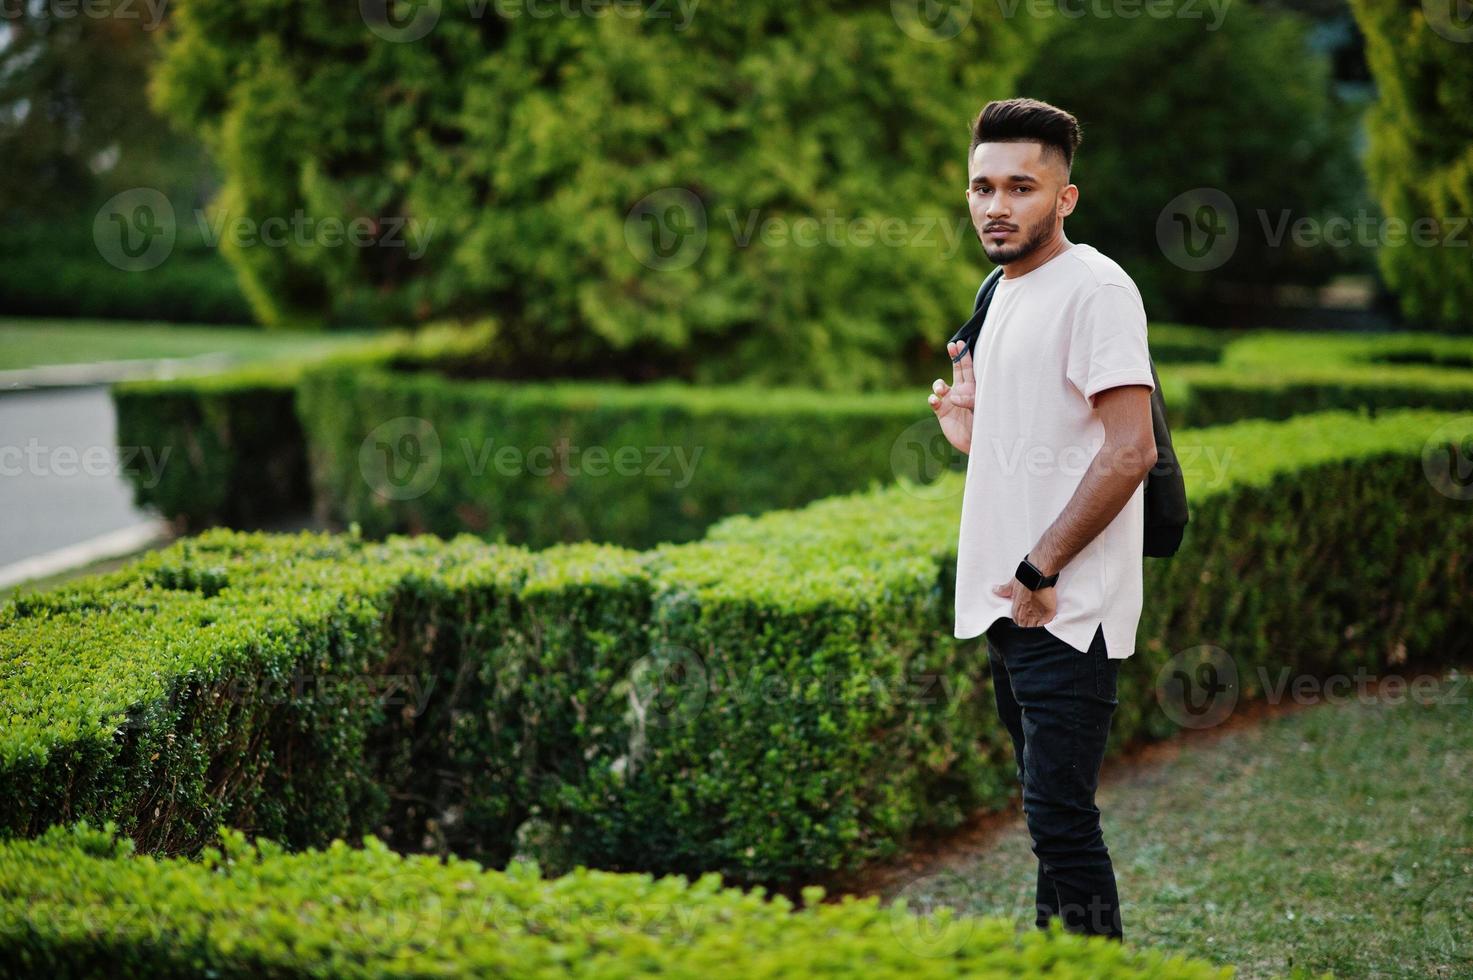
[[[1096,802],[1125,942],[1240,977],[1473,977],[1473,675],[1438,693],[1364,703],[1351,688],[1168,760],[1106,760]],[[1036,867],[1019,816],[882,902],[1033,928]]]

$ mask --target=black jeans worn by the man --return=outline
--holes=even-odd
[[[1094,806],[1119,660],[1105,632],[1087,653],[1046,626],[1002,617],[987,631],[997,715],[1012,735],[1022,809],[1038,858],[1038,928],[1059,917],[1072,933],[1124,939],[1115,868]]]

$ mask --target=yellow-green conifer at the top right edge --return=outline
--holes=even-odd
[[[1382,274],[1408,320],[1473,332],[1473,21],[1457,6],[1351,0],[1377,88],[1367,171],[1402,231]]]

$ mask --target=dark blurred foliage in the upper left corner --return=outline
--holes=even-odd
[[[21,3],[0,19],[0,309],[49,317],[242,323],[234,273],[193,221],[158,268],[103,261],[113,195],[153,189],[187,212],[211,183],[203,147],[150,112],[146,78],[168,4]]]

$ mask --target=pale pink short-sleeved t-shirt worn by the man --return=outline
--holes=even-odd
[[[977,351],[977,413],[956,554],[957,638],[1012,616],[993,594],[1064,511],[1105,442],[1094,395],[1146,385],[1146,309],[1130,276],[1074,243],[1036,270],[997,280]],[[1044,628],[1084,653],[1105,628],[1111,659],[1136,651],[1142,606],[1145,483],[1059,569],[1058,612]]]

